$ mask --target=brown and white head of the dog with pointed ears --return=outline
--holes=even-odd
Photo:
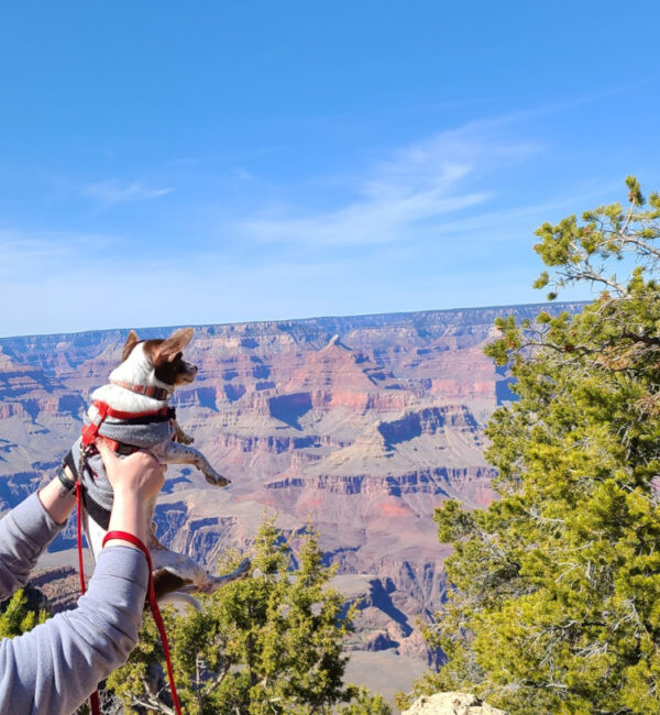
[[[160,383],[168,387],[191,383],[197,375],[197,366],[184,360],[184,348],[193,339],[193,328],[175,330],[164,340],[140,340],[138,333],[131,330],[121,355],[122,363],[135,356],[135,348],[141,346],[143,359],[146,360],[153,375]]]

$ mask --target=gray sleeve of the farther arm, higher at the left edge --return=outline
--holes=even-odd
[[[0,519],[0,601],[25,585],[41,552],[62,528],[36,492]]]

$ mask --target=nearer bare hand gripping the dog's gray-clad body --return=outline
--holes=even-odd
[[[103,439],[98,439],[95,446],[103,460],[116,498],[131,496],[139,502],[146,502],[161,491],[167,468],[151,452],[140,450],[120,459]]]

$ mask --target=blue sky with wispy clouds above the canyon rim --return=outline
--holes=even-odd
[[[660,189],[659,24],[650,1],[6,3],[0,336],[542,300],[542,221],[627,174]]]

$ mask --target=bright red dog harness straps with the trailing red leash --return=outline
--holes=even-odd
[[[168,414],[167,407],[163,407],[162,409],[155,411],[152,410],[148,413],[122,413],[120,410],[112,409],[110,405],[108,405],[107,403],[101,403],[98,400],[95,400],[92,403],[92,406],[96,408],[97,411],[95,417],[91,419],[91,422],[82,429],[82,444],[80,446],[80,454],[82,454],[85,450],[88,447],[90,447],[96,439],[100,437],[99,428],[103,424],[106,417],[114,417],[117,419],[131,419],[136,417],[142,418],[142,417],[161,416],[161,415]],[[100,437],[100,439],[106,439],[106,438]],[[112,444],[112,440],[106,440],[106,441]],[[114,449],[117,449],[116,443],[114,443]],[[76,527],[77,527],[77,537],[78,537],[78,568],[80,571],[80,591],[82,595],[85,595],[86,586],[85,586],[85,568],[82,564],[81,495],[82,495],[82,485],[80,484],[79,481],[77,481],[76,482],[76,507],[77,507]],[[132,534],[128,534],[127,531],[109,531],[108,534],[106,534],[103,538],[103,546],[106,546],[106,541],[108,541],[109,539],[124,539],[125,541],[130,541],[131,543],[136,546],[146,557],[146,561],[148,563],[148,591],[147,591],[148,605],[152,615],[154,617],[154,620],[156,622],[156,627],[158,628],[158,634],[161,635],[161,641],[163,642],[163,651],[165,652],[165,664],[167,666],[167,679],[169,681],[169,688],[172,690],[172,700],[174,702],[174,710],[176,711],[177,715],[182,715],[182,706],[179,703],[178,694],[176,692],[176,685],[174,682],[174,670],[172,668],[172,658],[169,656],[169,644],[167,642],[165,624],[163,623],[163,616],[161,615],[161,609],[158,608],[158,602],[156,601],[156,592],[154,590],[154,574],[153,574],[151,553],[148,552],[148,549],[144,546],[144,543],[142,543],[142,541],[136,536],[133,536]],[[100,715],[101,706],[99,702],[98,690],[90,695],[89,704],[91,707],[92,715]]]

